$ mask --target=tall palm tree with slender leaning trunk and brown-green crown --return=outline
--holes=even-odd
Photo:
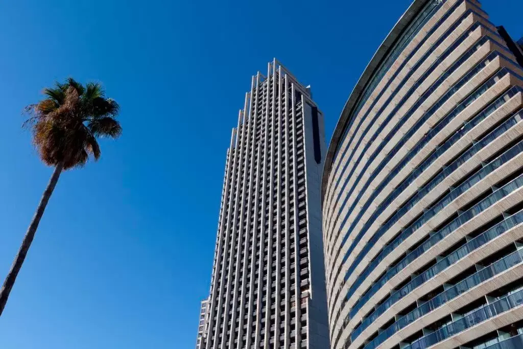
[[[0,289],[0,316],[60,174],[85,165],[89,154],[98,160],[100,146],[97,138],[118,138],[122,132],[116,120],[119,106],[115,100],[106,98],[98,83],[83,86],[69,78],[63,84],[57,82],[54,87],[45,88],[43,94],[46,98],[26,107],[30,118],[24,125],[31,129],[40,159],[46,165],[54,166],[54,171]]]

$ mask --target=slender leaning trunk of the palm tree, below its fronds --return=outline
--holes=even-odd
[[[33,239],[35,238],[35,233],[38,228],[38,224],[40,223],[40,219],[42,218],[43,211],[46,210],[47,202],[49,201],[51,194],[53,194],[54,187],[56,186],[56,182],[58,182],[58,178],[60,177],[60,174],[62,173],[63,168],[64,168],[63,162],[59,163],[54,168],[53,174],[51,176],[51,179],[49,180],[46,191],[43,192],[42,198],[40,199],[40,204],[38,204],[38,208],[36,210],[35,216],[33,216],[31,224],[30,224],[29,228],[27,229],[26,236],[24,237],[24,241],[22,242],[22,245],[20,246],[20,249],[18,250],[18,253],[15,257],[15,261],[13,262],[13,265],[11,266],[11,270],[9,271],[9,274],[7,274],[7,277],[5,278],[4,285],[2,285],[2,289],[0,289],[0,316],[2,316],[2,312],[4,311],[5,304],[7,303],[7,298],[9,297],[11,289],[13,288],[13,285],[15,284],[15,280],[18,275],[18,272],[20,272],[20,268],[22,267],[22,264],[24,263],[24,260],[26,259],[27,251],[29,250],[31,243],[32,243]]]

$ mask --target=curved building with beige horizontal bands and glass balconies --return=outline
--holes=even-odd
[[[369,63],[323,172],[332,348],[523,347],[515,47],[477,1],[416,0]]]

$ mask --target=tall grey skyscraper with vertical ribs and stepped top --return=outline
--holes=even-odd
[[[252,77],[226,155],[207,349],[328,347],[323,115],[276,59]]]

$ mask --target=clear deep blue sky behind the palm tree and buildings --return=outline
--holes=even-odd
[[[277,57],[311,84],[329,139],[409,3],[2,2],[0,279],[51,174],[20,129],[22,107],[56,79],[99,80],[121,104],[123,136],[61,177],[0,319],[0,348],[194,347],[225,150],[251,75]],[[483,6],[523,36],[523,2]]]

